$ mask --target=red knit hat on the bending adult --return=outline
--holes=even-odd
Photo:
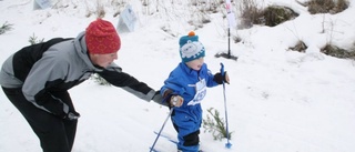
[[[85,41],[89,53],[114,53],[121,48],[121,40],[113,24],[98,19],[89,24],[85,31]]]

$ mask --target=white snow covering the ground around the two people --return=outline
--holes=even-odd
[[[337,14],[310,14],[293,0],[258,0],[263,6],[277,4],[295,9],[300,16],[270,28],[254,26],[231,32],[242,38],[231,43],[237,61],[214,58],[227,50],[226,20],[211,14],[211,23],[195,30],[206,48],[205,62],[213,72],[223,62],[230,74],[226,104],[231,149],[214,141],[201,128],[201,146],[207,152],[353,152],[355,150],[355,62],[320,52],[332,42],[354,48],[355,0]],[[305,1],[305,0],[303,0]],[[301,2],[303,2],[301,1]],[[0,0],[0,23],[8,21],[13,30],[0,34],[0,62],[30,44],[29,37],[49,40],[77,37],[95,19],[85,17],[95,1],[61,1],[58,9],[33,10],[32,0]],[[110,2],[105,8],[110,8]],[[160,89],[180,62],[179,38],[194,30],[187,21],[185,1],[160,1],[143,8],[139,0],[131,4],[138,14],[134,32],[120,33],[122,48],[115,61],[123,70],[154,89]],[[158,4],[158,6],[159,6]],[[169,8],[171,7],[171,8]],[[106,9],[105,20],[116,26],[114,9]],[[237,12],[236,12],[237,13]],[[162,29],[169,29],[164,32]],[[322,32],[324,31],[324,32]],[[288,48],[304,41],[305,53]],[[103,87],[92,80],[70,90],[77,111],[81,113],[73,152],[149,151],[168,116],[169,110],[145,102],[120,88]],[[207,90],[202,102],[204,116],[209,108],[224,113],[222,85]],[[224,115],[221,115],[224,118]],[[0,91],[0,151],[38,152],[39,140],[19,111]],[[175,135],[169,120],[164,133]],[[163,151],[175,146],[160,138],[155,145]]]

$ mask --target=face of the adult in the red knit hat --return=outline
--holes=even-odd
[[[90,54],[90,59],[93,64],[106,68],[113,62],[113,60],[118,59],[118,52],[108,54]]]

